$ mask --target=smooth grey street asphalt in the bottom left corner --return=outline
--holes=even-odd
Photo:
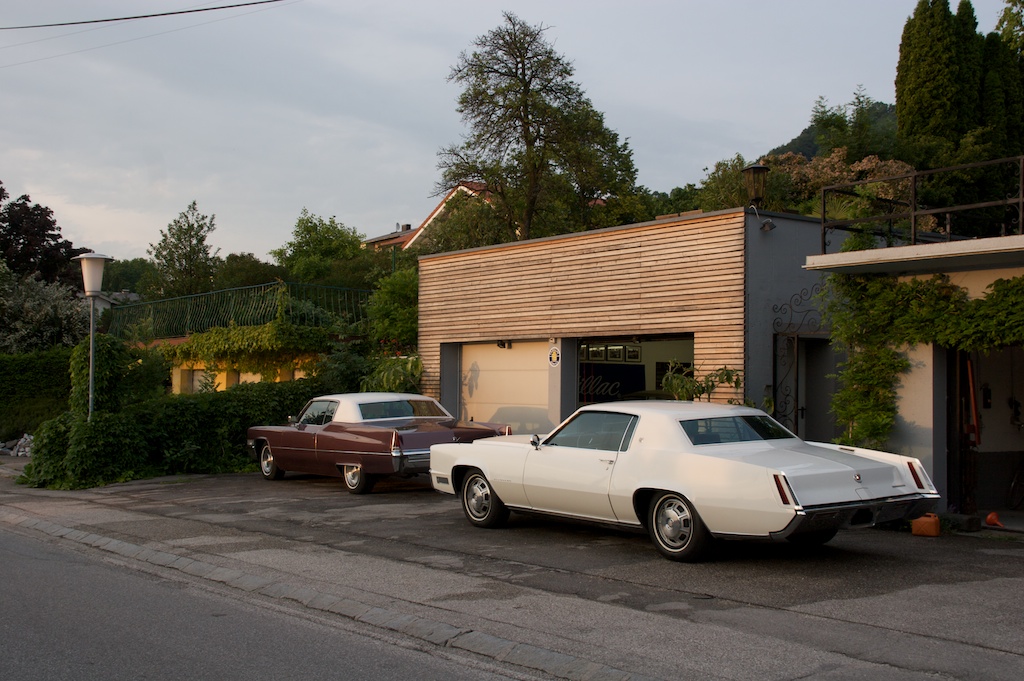
[[[0,565],[5,681],[512,678],[31,537],[0,533]]]

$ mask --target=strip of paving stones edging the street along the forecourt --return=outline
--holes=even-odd
[[[536,670],[559,679],[570,679],[571,681],[658,681],[652,677],[630,674],[555,650],[510,641],[483,632],[459,629],[445,623],[368,605],[350,598],[339,598],[308,587],[269,580],[166,551],[158,551],[110,537],[65,527],[24,513],[11,513],[6,509],[0,509],[0,521],[23,529],[32,529],[91,546],[124,558],[176,569],[191,577],[217,582],[233,589],[258,592],[263,596],[279,600],[295,601],[313,610],[331,612],[366,625],[397,632],[432,645],[466,650],[497,662]]]

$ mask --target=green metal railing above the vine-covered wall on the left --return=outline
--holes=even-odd
[[[352,324],[365,318],[369,297],[370,291],[361,289],[274,282],[118,305],[111,309],[109,333],[127,338],[141,328],[154,338],[178,338],[215,327],[260,326],[276,318],[308,327]]]

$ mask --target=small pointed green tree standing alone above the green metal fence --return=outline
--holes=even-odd
[[[213,290],[220,249],[213,249],[206,240],[216,228],[214,218],[200,213],[193,201],[166,230],[160,230],[160,241],[146,250],[159,274],[158,291],[148,293],[173,298]]]

